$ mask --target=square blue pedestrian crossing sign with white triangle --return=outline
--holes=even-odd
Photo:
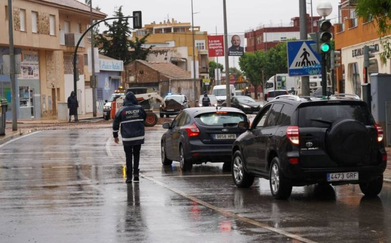
[[[321,57],[311,49],[314,41],[287,42],[289,76],[310,76],[322,74]]]

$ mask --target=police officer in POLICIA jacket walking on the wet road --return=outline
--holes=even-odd
[[[136,96],[128,92],[123,107],[117,111],[113,121],[113,136],[116,144],[119,143],[118,132],[121,126],[122,144],[126,155],[126,183],[131,183],[132,174],[134,182],[139,182],[138,164],[141,144],[144,144],[146,118],[147,113],[138,105]]]

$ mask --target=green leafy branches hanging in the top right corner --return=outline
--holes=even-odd
[[[374,19],[378,27],[383,52],[380,53],[382,63],[391,58],[390,37],[391,32],[391,0],[357,0],[356,13],[365,20]]]

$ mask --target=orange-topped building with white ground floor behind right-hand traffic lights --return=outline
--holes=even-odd
[[[341,0],[339,4],[339,22],[335,24],[335,49],[341,50],[341,67],[337,69],[337,91],[362,96],[361,84],[365,80],[364,46],[375,47],[372,54],[376,63],[369,66],[371,73],[391,73],[391,61],[382,63],[383,52],[378,28],[373,19],[359,18],[355,12],[356,1]],[[391,34],[391,33],[390,33]]]

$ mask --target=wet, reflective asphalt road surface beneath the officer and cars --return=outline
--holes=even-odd
[[[222,164],[160,162],[149,129],[139,184],[125,184],[124,153],[109,129],[52,130],[0,145],[1,243],[391,242],[391,186],[378,198],[356,185],[236,188]]]

